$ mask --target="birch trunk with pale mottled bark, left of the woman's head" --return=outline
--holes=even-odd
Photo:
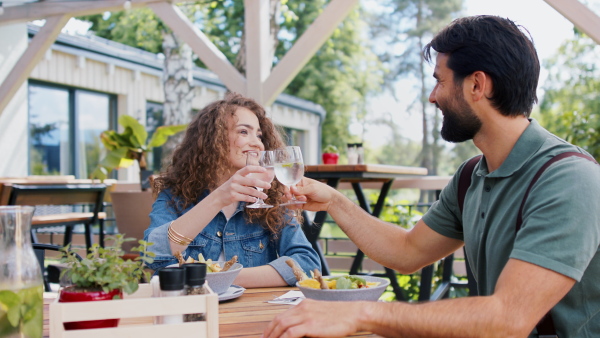
[[[164,125],[188,123],[191,120],[194,97],[192,49],[171,31],[163,32],[162,47],[165,55],[163,71]],[[183,133],[179,133],[170,137],[163,145],[163,170],[170,163],[171,154],[182,138]]]

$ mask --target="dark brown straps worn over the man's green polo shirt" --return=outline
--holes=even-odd
[[[521,207],[519,208],[519,213],[517,214],[517,222],[516,222],[515,232],[518,232],[521,229],[521,225],[523,225],[523,207],[525,205],[525,201],[527,200],[527,197],[529,196],[529,192],[531,191],[531,188],[533,187],[533,185],[537,182],[537,180],[540,178],[540,176],[542,176],[542,173],[550,165],[552,165],[553,163],[555,163],[557,161],[560,161],[564,158],[571,157],[571,156],[585,158],[587,160],[590,160],[590,161],[598,164],[598,162],[596,162],[596,160],[593,159],[592,157],[584,155],[582,153],[574,152],[574,151],[569,151],[569,152],[558,154],[558,155],[552,157],[550,160],[548,160],[548,162],[544,163],[544,165],[538,170],[538,172],[535,174],[535,176],[533,176],[533,179],[531,180],[531,182],[529,183],[529,186],[527,187],[527,190],[525,191],[525,195],[523,196],[523,200],[521,201]],[[458,179],[458,207],[460,209],[461,214],[462,214],[463,207],[465,204],[465,197],[467,195],[467,190],[469,189],[469,186],[471,185],[471,175],[473,174],[475,165],[477,164],[477,162],[479,162],[480,159],[481,159],[481,155],[470,159],[467,162],[467,164],[465,164],[465,166],[463,167],[463,170],[460,173],[460,177]],[[554,327],[554,321],[552,320],[552,315],[550,314],[550,311],[548,311],[548,313],[546,313],[546,315],[542,318],[542,320],[540,320],[540,322],[536,325],[536,329],[537,329],[539,337],[558,337],[556,335],[556,329]]]

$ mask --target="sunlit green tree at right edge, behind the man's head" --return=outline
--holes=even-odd
[[[577,31],[576,31],[577,32]],[[561,45],[545,64],[549,75],[541,123],[557,136],[600,158],[600,46],[582,33]]]

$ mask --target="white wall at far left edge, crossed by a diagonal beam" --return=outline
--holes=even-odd
[[[27,49],[27,24],[0,26],[0,83]],[[27,176],[27,83],[0,114],[0,177]]]

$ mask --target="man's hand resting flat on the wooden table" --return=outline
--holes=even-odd
[[[360,330],[360,302],[304,299],[269,323],[263,337],[345,337]]]

